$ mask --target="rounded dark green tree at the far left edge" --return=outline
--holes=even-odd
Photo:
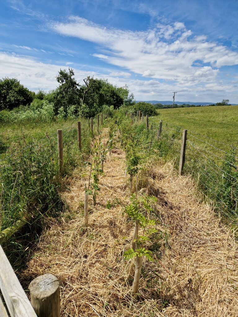
[[[26,106],[32,102],[34,96],[35,93],[21,85],[16,78],[0,79],[0,110]]]

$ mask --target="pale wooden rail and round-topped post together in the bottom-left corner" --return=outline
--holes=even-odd
[[[60,317],[59,281],[54,275],[36,277],[29,289],[31,303],[0,245],[0,290],[10,316]],[[9,317],[3,299],[0,296],[0,317]]]

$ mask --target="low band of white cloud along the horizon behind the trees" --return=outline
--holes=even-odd
[[[49,91],[55,89],[57,81],[55,76],[58,71],[66,68],[64,65],[54,65],[50,63],[43,63],[36,61],[31,57],[19,56],[16,54],[9,54],[0,52],[0,74],[2,77],[15,77],[20,82],[31,90],[37,91],[43,89]],[[83,83],[83,78],[88,75],[95,78],[108,79],[113,85],[124,86],[127,84],[130,91],[135,95],[136,100],[172,100],[172,91],[178,91],[176,95],[177,100],[180,101],[211,101],[217,102],[222,99],[230,99],[232,103],[237,101],[237,88],[234,84],[225,87],[216,87],[215,84],[206,84],[206,87],[200,85],[194,90],[187,81],[177,83],[176,85],[168,82],[160,82],[157,79],[139,80],[129,77],[126,72],[107,71],[108,74],[82,71],[74,69],[75,78],[77,81]],[[206,77],[213,76],[210,73],[213,71],[210,67],[196,68],[195,76]],[[201,73],[199,73],[201,72]],[[127,75],[128,74],[128,75]],[[191,79],[187,79],[191,80]],[[214,86],[214,87],[213,87]],[[176,90],[174,90],[176,89]],[[197,97],[195,97],[195,93]]]

